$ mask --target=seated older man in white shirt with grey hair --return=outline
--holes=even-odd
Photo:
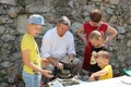
[[[71,73],[76,75],[81,72],[82,62],[74,58],[74,38],[69,32],[70,26],[71,23],[67,16],[60,17],[56,27],[44,35],[40,51],[41,57],[46,58],[53,67],[60,70],[67,64],[70,66]]]

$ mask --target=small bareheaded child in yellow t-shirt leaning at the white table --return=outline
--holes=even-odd
[[[96,54],[96,61],[98,63],[98,66],[102,69],[98,72],[95,72],[91,75],[88,80],[102,80],[107,78],[112,78],[112,69],[109,64],[109,53],[107,51],[99,51]]]

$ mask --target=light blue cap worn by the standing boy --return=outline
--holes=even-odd
[[[45,25],[44,17],[38,14],[33,14],[28,18],[28,24]]]

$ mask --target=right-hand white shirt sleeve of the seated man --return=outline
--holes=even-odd
[[[76,54],[75,53],[75,48],[74,48],[74,37],[73,37],[72,34],[71,34],[71,37],[70,37],[69,49],[68,49],[68,54],[70,54],[70,53]]]

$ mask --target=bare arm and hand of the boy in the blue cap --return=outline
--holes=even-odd
[[[26,64],[27,66],[29,66],[31,69],[40,72],[41,74],[44,74],[47,77],[52,77],[51,72],[47,71],[47,70],[41,70],[39,67],[37,67],[33,62],[29,61],[29,50],[24,50],[22,52],[23,55],[23,63]]]

